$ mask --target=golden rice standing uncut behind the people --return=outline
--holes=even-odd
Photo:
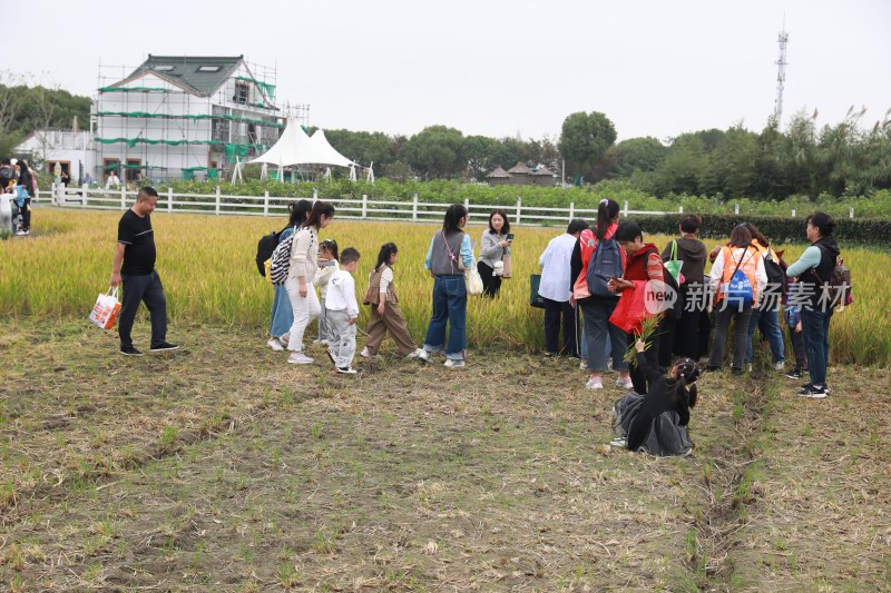
[[[35,211],[35,233],[28,238],[0,241],[0,314],[13,318],[77,319],[86,317],[97,294],[108,287],[111,255],[120,213],[71,211],[40,208]],[[480,220],[481,223],[482,220]],[[177,324],[213,324],[255,328],[265,333],[272,305],[272,287],[254,265],[261,236],[284,225],[283,219],[153,215],[157,269],[165,285],[172,337]],[[383,243],[400,248],[395,268],[400,306],[415,339],[423,337],[430,316],[432,279],[423,268],[437,227],[405,223],[343,221],[335,218],[322,233],[341,250],[360,250],[356,289],[361,295],[368,274]],[[471,224],[474,241],[483,231]],[[515,228],[515,277],[505,280],[500,298],[471,298],[468,306],[470,348],[501,345],[521,352],[542,347],[541,312],[529,306],[529,275],[539,271],[538,257],[559,231]],[[669,237],[650,236],[659,247]],[[706,240],[709,248],[716,245]],[[793,261],[806,245],[785,248]],[[832,322],[831,349],[835,363],[888,366],[891,359],[891,290],[882,275],[891,269],[891,254],[870,248],[843,248],[854,280],[853,306]],[[360,323],[368,310],[363,308]]]

